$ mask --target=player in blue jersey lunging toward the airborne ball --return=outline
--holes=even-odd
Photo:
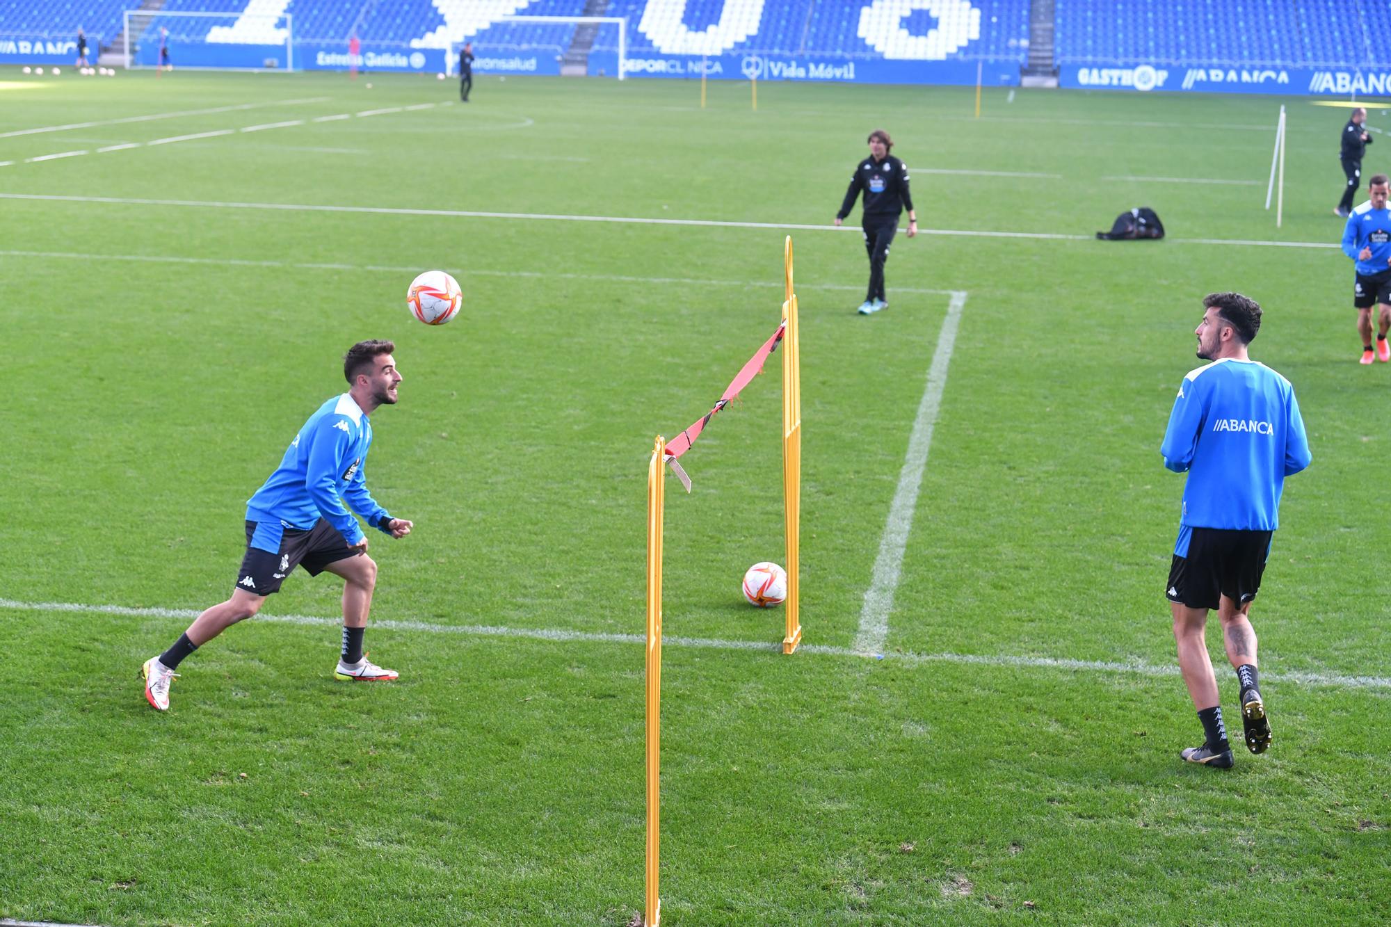
[[[174,670],[193,650],[227,628],[260,611],[266,596],[295,566],[310,576],[330,572],[344,582],[342,653],[334,678],[383,682],[396,678],[362,650],[377,564],[367,557],[367,537],[352,507],[369,525],[405,537],[413,525],[392,518],[367,491],[363,468],[371,447],[367,416],[396,404],[401,373],[389,341],[360,341],[344,358],[349,390],[324,402],[309,416],[270,479],[246,501],[246,554],[232,597],[200,614],[188,631],[159,657],[145,661],[145,697],[160,711],[170,707]]]

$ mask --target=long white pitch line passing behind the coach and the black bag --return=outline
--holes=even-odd
[[[231,129],[228,129],[231,131]],[[153,142],[150,142],[153,145]],[[188,209],[260,209],[284,213],[357,213],[369,216],[435,216],[442,219],[520,219],[562,223],[616,223],[623,225],[686,225],[697,228],[775,228],[778,231],[857,232],[853,225],[807,225],[798,223],[736,223],[715,219],[648,219],[643,216],[566,216],[558,213],[494,213],[465,209],[413,209],[406,206],[325,206],[316,203],[238,203],[200,199],[147,199],[140,196],[63,196],[57,193],[0,193],[0,199],[32,199],[63,203],[113,203],[121,206],[181,206]],[[943,238],[1034,238],[1040,241],[1093,241],[1095,235],[1063,232],[976,231],[965,228],[918,228],[924,235]],[[1313,241],[1256,241],[1238,238],[1168,238],[1177,245],[1249,245],[1269,248],[1341,248]]]

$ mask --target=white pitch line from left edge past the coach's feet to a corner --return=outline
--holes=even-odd
[[[216,267],[270,267],[273,270],[331,270],[331,271],[383,271],[392,274],[415,274],[419,267],[391,264],[342,264],[342,263],[299,263],[289,260],[250,260],[242,258],[184,258],[181,255],[92,255],[72,251],[0,251],[0,258],[51,258],[56,260],[121,260],[154,264],[211,264]],[[709,280],[704,277],[637,277],[629,274],[581,274],[549,270],[487,270],[481,267],[441,267],[456,277],[527,277],[536,280],[594,280],[604,283],[676,284],[682,287],[782,287],[771,280]],[[862,292],[857,284],[815,284],[800,281],[803,290],[843,290]],[[894,292],[911,294],[954,294],[954,290],[929,290],[924,287],[894,287]]]

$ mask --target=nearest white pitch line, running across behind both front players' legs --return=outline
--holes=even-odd
[[[200,611],[198,608],[132,608],[129,605],[88,605],[81,603],[61,603],[61,601],[15,601],[13,599],[0,599],[0,608],[18,610],[18,611],[39,611],[49,614],[83,614],[83,615],[122,615],[129,618],[172,618],[179,621],[191,621],[196,618]],[[310,628],[337,628],[342,625],[342,618],[327,618],[320,615],[274,615],[267,612],[260,612],[250,621],[277,624],[277,625],[300,625]],[[619,643],[619,644],[645,644],[647,637],[643,635],[625,635],[625,633],[602,633],[591,631],[563,631],[563,629],[548,629],[548,628],[505,628],[501,625],[441,625],[426,621],[373,621],[374,628],[381,628],[387,631],[408,631],[420,632],[431,635],[460,635],[469,637],[513,637],[513,639],[527,639],[527,640],[548,640],[548,642],[586,642],[586,643]],[[675,647],[697,647],[707,650],[734,650],[734,651],[753,651],[753,653],[769,653],[780,654],[782,643],[778,640],[719,640],[716,637],[683,637],[683,636],[664,636],[662,643]],[[864,654],[849,647],[832,647],[825,644],[801,644],[797,647],[800,654],[815,654],[821,657],[847,657],[847,658],[876,658],[881,654]],[[1010,668],[1025,668],[1025,670],[1063,670],[1067,672],[1107,672],[1118,675],[1142,675],[1142,676],[1178,676],[1178,667],[1175,665],[1155,665],[1143,663],[1139,660],[1118,663],[1106,660],[1071,660],[1066,657],[1015,657],[1007,654],[974,654],[974,653],[914,653],[914,651],[896,651],[882,654],[882,658],[893,660],[896,663],[906,663],[910,665],[922,665],[929,663],[953,663],[964,665],[979,665],[979,667],[1010,667]],[[1342,674],[1326,674],[1326,672],[1301,672],[1301,671],[1263,671],[1260,674],[1266,679],[1273,679],[1278,682],[1298,682],[1310,686],[1330,686],[1334,689],[1388,689],[1391,690],[1391,676],[1349,676]]]

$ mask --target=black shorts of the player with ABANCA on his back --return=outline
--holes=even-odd
[[[1168,601],[1189,608],[1217,608],[1221,596],[1245,605],[1260,590],[1273,532],[1193,528],[1188,555],[1174,554]]]

